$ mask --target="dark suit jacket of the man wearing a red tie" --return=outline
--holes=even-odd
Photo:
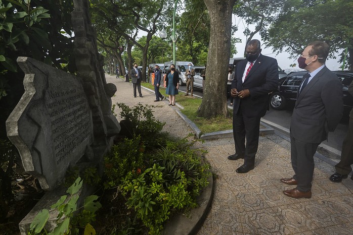
[[[269,107],[269,93],[278,89],[278,65],[275,58],[260,54],[252,66],[246,80],[242,81],[247,60],[238,62],[231,89],[239,91],[249,89],[250,96],[236,97],[233,113],[239,108],[244,116],[263,116]]]

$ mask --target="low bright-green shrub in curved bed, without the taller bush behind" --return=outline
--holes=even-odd
[[[146,153],[140,137],[124,139],[105,158],[105,187],[118,187],[128,208],[151,234],[159,234],[171,213],[197,206],[196,197],[207,186],[209,164],[205,151],[187,139],[167,138],[165,147]]]

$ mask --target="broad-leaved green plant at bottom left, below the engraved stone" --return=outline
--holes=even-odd
[[[53,231],[48,234],[79,234],[79,228],[84,227],[84,234],[95,233],[95,229],[91,223],[95,220],[95,212],[101,208],[101,204],[97,202],[98,196],[91,195],[85,198],[83,206],[77,208],[77,201],[79,198],[78,192],[82,187],[83,181],[77,178],[75,183],[72,184],[66,191],[69,194],[62,196],[57,203],[51,206],[51,209],[56,209],[59,213],[56,218],[57,225]],[[75,216],[79,210],[82,211]],[[30,224],[29,234],[38,234],[43,231],[49,219],[49,210],[41,210],[33,219]]]

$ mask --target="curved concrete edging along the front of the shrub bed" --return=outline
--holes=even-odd
[[[201,194],[197,197],[199,207],[192,209],[187,216],[178,214],[169,219],[164,225],[162,234],[187,235],[197,233],[207,217],[213,199],[212,175],[207,181],[209,182],[208,186],[203,189]]]

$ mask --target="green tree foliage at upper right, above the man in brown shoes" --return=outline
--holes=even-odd
[[[327,42],[330,57],[339,49],[348,48],[353,62],[353,2],[350,0],[300,1],[290,0],[283,5],[268,34],[268,46],[297,56],[311,41]],[[342,60],[342,59],[341,59]]]

